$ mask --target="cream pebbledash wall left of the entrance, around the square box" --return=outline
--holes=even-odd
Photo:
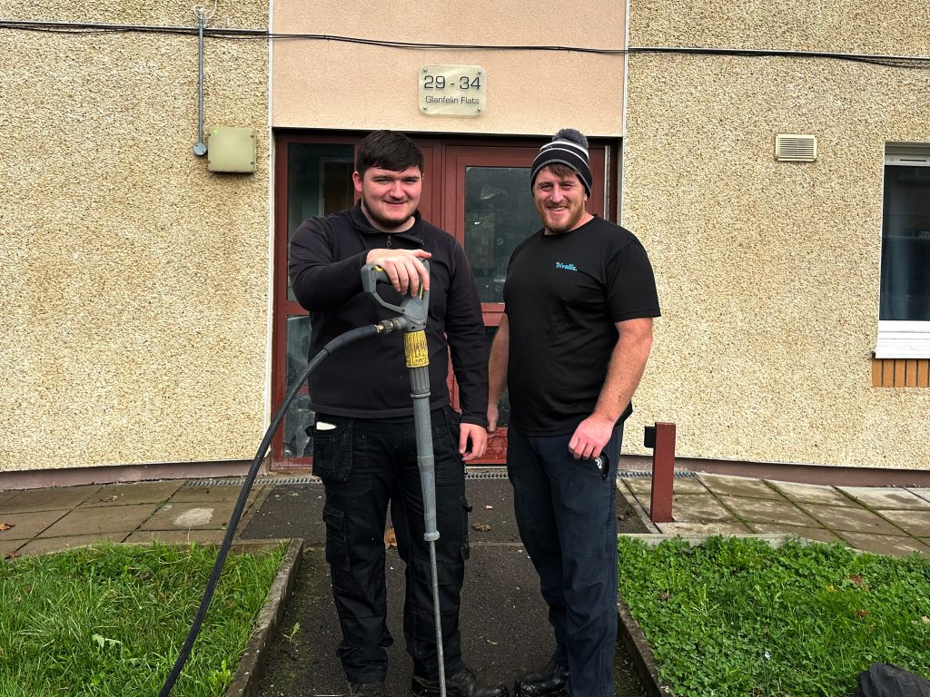
[[[0,17],[195,26],[192,7],[0,0]],[[267,16],[220,0],[210,26]],[[193,155],[196,36],[0,28],[0,52],[0,471],[251,457],[268,384],[267,43],[206,41],[206,125],[256,129],[253,175]]]

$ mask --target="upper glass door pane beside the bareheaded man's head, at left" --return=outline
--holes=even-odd
[[[351,145],[289,143],[287,145],[287,240],[300,223],[352,206]],[[294,300],[290,281],[287,299]]]

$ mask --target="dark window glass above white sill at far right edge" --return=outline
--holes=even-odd
[[[930,167],[884,168],[879,319],[930,322]]]

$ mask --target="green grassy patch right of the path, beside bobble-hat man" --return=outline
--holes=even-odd
[[[754,538],[621,537],[619,591],[675,697],[852,694],[872,662],[930,676],[930,559]]]

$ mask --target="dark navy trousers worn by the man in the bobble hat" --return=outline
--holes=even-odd
[[[623,425],[604,446],[603,477],[568,450],[572,434],[511,426],[507,470],[520,537],[539,574],[569,697],[613,697],[617,645],[617,462]]]

